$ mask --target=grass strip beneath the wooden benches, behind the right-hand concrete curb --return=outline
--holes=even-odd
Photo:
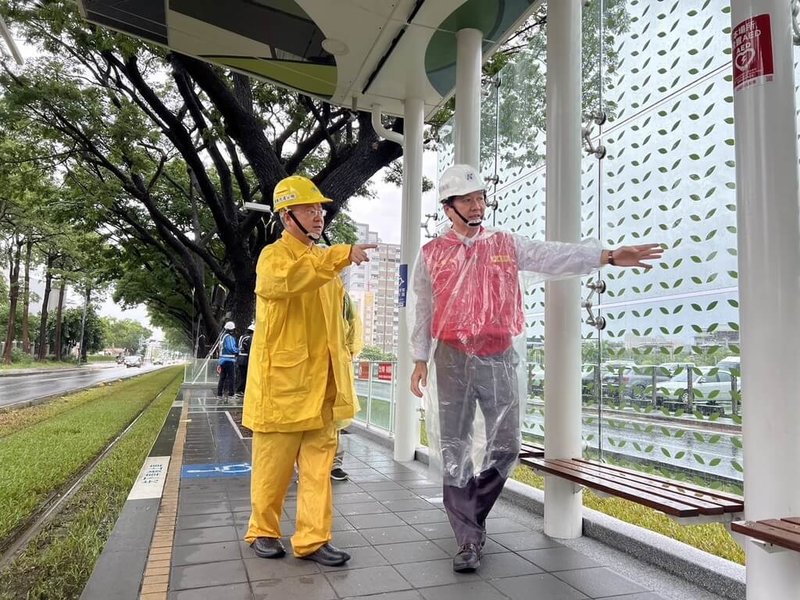
[[[518,466],[512,477],[540,490],[544,489],[544,477],[537,475],[524,465]],[[680,525],[664,513],[652,508],[622,498],[600,498],[591,490],[583,491],[583,505],[620,521],[644,527],[684,544],[689,544],[703,552],[744,564],[744,550],[733,540],[731,534],[721,523]]]

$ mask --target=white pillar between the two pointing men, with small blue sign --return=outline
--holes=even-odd
[[[394,459],[414,460],[419,444],[417,398],[411,394],[411,354],[408,341],[406,292],[414,261],[419,252],[422,222],[422,132],[425,105],[419,98],[405,101],[403,149],[403,215],[400,238],[400,315],[397,349],[397,404],[395,406]]]

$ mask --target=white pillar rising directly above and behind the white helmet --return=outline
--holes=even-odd
[[[483,32],[462,29],[456,40],[455,162],[480,169]]]

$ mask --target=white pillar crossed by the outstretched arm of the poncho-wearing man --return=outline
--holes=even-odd
[[[546,238],[577,242],[581,225],[581,11],[583,0],[547,5]],[[581,312],[577,278],[545,286],[545,456],[581,454]],[[582,494],[545,478],[544,532],[582,534]]]

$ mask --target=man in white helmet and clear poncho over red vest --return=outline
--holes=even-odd
[[[485,184],[469,165],[442,174],[439,200],[452,228],[423,246],[415,267],[411,391],[423,397],[433,358],[433,389],[424,394],[432,460],[441,462],[444,506],[459,546],[453,570],[471,572],[480,566],[486,518],[519,455],[525,380],[513,342],[525,330],[520,272],[647,269],[643,261],[659,258],[661,249],[604,250],[597,241],[539,242],[487,229]]]

